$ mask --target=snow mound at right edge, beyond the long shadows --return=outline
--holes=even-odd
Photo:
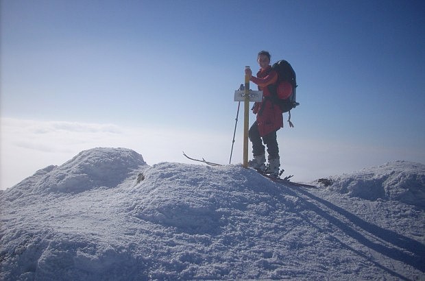
[[[389,199],[425,208],[425,165],[394,161],[378,167],[337,175],[329,189],[368,200]]]

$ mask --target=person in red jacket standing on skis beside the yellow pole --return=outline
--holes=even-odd
[[[271,97],[267,86],[276,84],[278,73],[271,69],[268,51],[260,51],[257,60],[260,66],[257,77],[252,76],[251,69],[246,69],[245,74],[250,76],[250,81],[258,86],[258,90],[263,90],[263,97]],[[250,128],[249,137],[252,142],[254,159],[250,160],[248,164],[260,172],[278,176],[280,157],[276,132],[283,127],[282,111],[279,106],[274,106],[270,99],[263,99],[263,102],[254,103],[252,112],[256,114],[256,121]],[[267,154],[269,154],[267,167],[263,143],[267,145]]]

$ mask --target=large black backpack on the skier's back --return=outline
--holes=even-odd
[[[274,71],[278,73],[278,82],[267,86],[271,93],[271,102],[274,103],[274,105],[279,106],[282,112],[289,112],[288,122],[290,127],[293,127],[291,122],[291,109],[300,105],[300,103],[297,102],[297,76],[295,75],[295,71],[293,71],[291,64],[289,64],[286,60],[279,60],[278,62],[275,62],[273,66],[271,66],[271,69],[274,69]],[[278,86],[284,81],[291,84],[292,93],[287,99],[280,99],[278,97]]]

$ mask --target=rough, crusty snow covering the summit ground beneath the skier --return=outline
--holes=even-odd
[[[313,184],[82,151],[0,192],[0,279],[425,280],[424,164]]]

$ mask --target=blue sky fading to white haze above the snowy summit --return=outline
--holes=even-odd
[[[298,76],[295,128],[278,132],[288,173],[424,163],[424,14],[423,1],[2,0],[1,188],[91,147],[228,162],[233,92],[263,49]],[[235,163],[241,129],[242,114]]]

